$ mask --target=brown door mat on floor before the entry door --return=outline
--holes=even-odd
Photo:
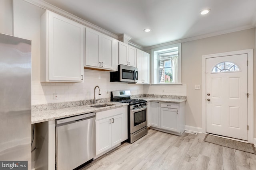
[[[228,147],[231,149],[236,149],[236,150],[242,150],[244,152],[249,152],[252,154],[256,154],[256,150],[253,144],[250,143],[244,143],[240,141],[233,141],[231,139],[225,139],[222,137],[216,137],[212,135],[206,135],[204,138],[205,142],[213,143],[216,145],[220,145],[223,147]]]

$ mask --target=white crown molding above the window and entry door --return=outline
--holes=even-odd
[[[150,50],[150,49],[154,49],[154,48],[158,48],[158,47],[162,47],[162,46],[166,46],[166,45],[172,45],[172,44],[176,44],[176,43],[185,43],[185,42],[188,42],[188,41],[194,41],[194,40],[198,40],[198,39],[214,37],[214,36],[217,36],[217,35],[222,35],[222,34],[226,34],[226,33],[232,33],[232,32],[236,32],[236,31],[242,31],[242,30],[250,29],[250,28],[254,28],[254,27],[255,26],[253,26],[253,25],[245,25],[245,26],[242,26],[242,27],[226,29],[226,30],[217,31],[217,32],[213,32],[213,33],[207,33],[207,34],[198,35],[198,36],[194,36],[194,37],[178,39],[176,41],[170,41],[170,42],[167,42],[167,43],[153,45],[153,46],[150,46],[150,47],[144,47],[143,50],[146,51],[146,50]]]

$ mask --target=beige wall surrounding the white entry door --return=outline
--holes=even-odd
[[[255,61],[255,28],[182,43],[181,78],[182,83],[187,84],[188,99],[186,102],[186,125],[202,127],[202,90],[195,90],[196,84],[202,85],[202,55],[243,49],[254,49]],[[256,130],[254,130],[255,132]]]

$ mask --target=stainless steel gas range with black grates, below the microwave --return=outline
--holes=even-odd
[[[128,103],[128,142],[133,143],[148,133],[147,101],[131,99],[130,90],[112,91],[112,102]]]

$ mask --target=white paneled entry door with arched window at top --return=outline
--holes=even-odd
[[[248,140],[247,54],[206,59],[206,133]]]

